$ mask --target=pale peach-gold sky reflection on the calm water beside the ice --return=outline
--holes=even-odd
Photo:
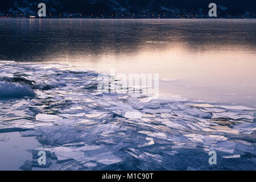
[[[127,74],[159,73],[160,95],[164,98],[180,95],[193,100],[255,106],[255,53],[237,46],[191,51],[179,43],[164,49],[141,49],[133,55],[104,52],[97,57],[72,57],[65,55],[61,61],[52,62],[105,73],[110,73],[110,69]],[[176,81],[161,82],[164,78]]]

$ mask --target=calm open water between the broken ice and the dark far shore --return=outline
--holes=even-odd
[[[160,97],[256,107],[254,19],[0,19],[0,60],[159,73]]]

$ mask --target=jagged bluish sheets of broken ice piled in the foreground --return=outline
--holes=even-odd
[[[254,108],[104,93],[97,76],[67,65],[1,62],[0,133],[36,137],[41,146],[27,160],[44,150],[56,170],[255,170]]]

